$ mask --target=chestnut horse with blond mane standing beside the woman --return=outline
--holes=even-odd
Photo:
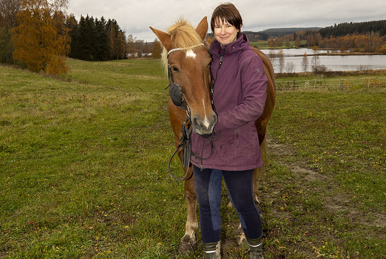
[[[187,127],[197,134],[208,134],[213,130],[217,122],[217,115],[212,109],[211,103],[211,57],[207,52],[208,44],[205,41],[208,23],[206,16],[201,19],[196,28],[189,22],[180,18],[167,32],[150,29],[158,37],[163,47],[162,63],[169,75],[169,83],[176,82],[180,85],[183,93],[185,109],[175,106],[171,99],[168,102],[169,120],[174,133],[175,146],[177,147],[183,138],[181,122],[186,122],[190,117]],[[264,72],[268,78],[267,98],[262,115],[255,121],[260,150],[263,155],[267,152],[265,140],[266,125],[271,117],[275,102],[275,81],[273,67],[267,56],[260,50],[253,48],[264,63]],[[183,124],[182,124],[183,125]],[[264,152],[265,151],[265,152]],[[181,238],[178,251],[186,254],[197,248],[195,232],[198,229],[196,203],[197,198],[194,191],[193,170],[191,164],[184,167],[182,152],[178,150],[184,170],[184,196],[187,206],[187,217],[185,234]],[[253,194],[257,199],[257,175],[262,172],[262,167],[254,171]]]

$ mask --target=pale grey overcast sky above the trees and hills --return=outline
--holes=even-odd
[[[180,16],[196,26],[203,16],[208,22],[218,0],[69,0],[67,13],[115,19],[126,34],[153,41],[149,29],[165,30]],[[386,19],[386,0],[237,0],[242,30],[260,31],[281,27],[325,27],[341,22]],[[209,26],[210,30],[210,26]],[[210,32],[210,31],[208,31]]]

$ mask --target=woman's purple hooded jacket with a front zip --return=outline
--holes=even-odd
[[[262,166],[254,121],[260,117],[266,99],[267,77],[263,63],[249,46],[246,35],[221,48],[214,40],[209,53],[214,81],[213,103],[218,122],[210,138],[191,134],[191,156],[197,167],[242,171]],[[222,61],[222,62],[221,62]],[[221,64],[220,64],[221,62]]]

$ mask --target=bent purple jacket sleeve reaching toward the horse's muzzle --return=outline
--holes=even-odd
[[[267,77],[263,63],[257,55],[244,62],[241,73],[241,103],[236,107],[217,114],[214,132],[236,129],[261,116],[266,100]]]

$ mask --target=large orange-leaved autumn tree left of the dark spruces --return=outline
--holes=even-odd
[[[60,24],[64,24],[61,11],[44,7],[20,11],[18,26],[12,30],[15,50],[13,58],[24,62],[30,71],[59,75],[66,73],[65,58],[70,38]]]

